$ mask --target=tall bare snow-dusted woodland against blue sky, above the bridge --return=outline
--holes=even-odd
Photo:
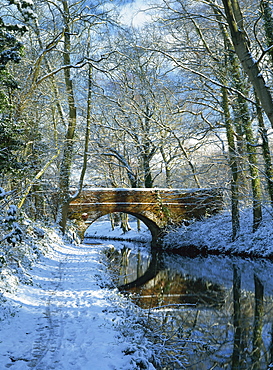
[[[1,0],[0,242],[83,187],[221,188],[233,240],[273,204],[271,0],[137,3]]]

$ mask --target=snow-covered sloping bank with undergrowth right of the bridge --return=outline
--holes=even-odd
[[[163,245],[168,250],[180,250],[182,253],[183,249],[194,246],[208,253],[273,258],[272,222],[272,210],[264,209],[262,224],[253,233],[252,211],[246,209],[240,215],[239,236],[232,241],[231,214],[219,213],[169,231]]]

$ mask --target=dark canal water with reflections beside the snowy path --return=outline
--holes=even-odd
[[[273,369],[270,261],[189,258],[126,242],[105,255],[147,335],[164,347],[160,369]]]

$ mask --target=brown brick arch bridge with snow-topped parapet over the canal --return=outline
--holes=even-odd
[[[170,224],[214,214],[223,208],[219,189],[92,188],[69,205],[68,217],[88,224],[109,213],[123,212],[143,221],[153,241]],[[86,228],[89,225],[86,225]]]

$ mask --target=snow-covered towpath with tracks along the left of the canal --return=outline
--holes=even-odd
[[[1,322],[0,369],[154,369],[143,333],[123,317],[125,300],[107,288],[101,248],[56,243],[30,272],[33,284],[5,294],[18,310]]]

